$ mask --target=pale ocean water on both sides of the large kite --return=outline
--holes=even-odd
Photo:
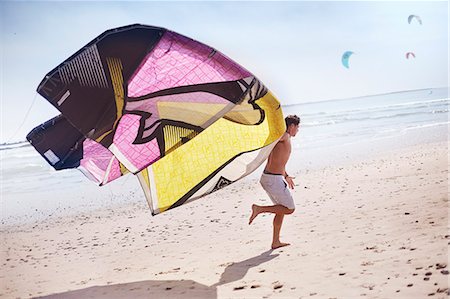
[[[285,115],[301,117],[287,169],[317,169],[394,148],[448,140],[449,104],[448,88],[438,88],[282,106]],[[132,175],[98,187],[78,170],[55,171],[27,142],[0,145],[0,163],[4,224],[124,201],[145,204]]]

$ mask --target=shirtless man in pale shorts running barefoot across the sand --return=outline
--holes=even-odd
[[[284,215],[292,214],[295,210],[289,188],[294,189],[294,177],[286,173],[286,163],[291,154],[291,137],[298,132],[300,118],[297,115],[288,115],[285,118],[286,132],[278,140],[267,160],[267,165],[261,175],[260,183],[274,203],[273,206],[252,205],[252,215],[248,224],[261,213],[273,213],[273,240],[272,249],[287,246],[289,243],[280,242],[280,230],[283,224]],[[284,179],[283,179],[284,178]],[[287,184],[286,184],[287,182]]]

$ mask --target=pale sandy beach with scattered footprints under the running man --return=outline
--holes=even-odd
[[[301,151],[300,151],[301,154]],[[2,226],[2,298],[447,298],[448,143],[295,172],[270,250],[256,179],[152,217],[115,209]],[[95,194],[93,194],[95,198]]]

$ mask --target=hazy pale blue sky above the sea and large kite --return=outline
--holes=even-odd
[[[408,24],[411,14],[423,25]],[[282,104],[448,86],[447,1],[2,1],[0,142],[24,140],[58,114],[36,93],[46,73],[105,30],[134,23],[218,49]]]

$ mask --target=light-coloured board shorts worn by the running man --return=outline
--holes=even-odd
[[[263,173],[259,182],[275,205],[295,209],[294,199],[281,174]]]

